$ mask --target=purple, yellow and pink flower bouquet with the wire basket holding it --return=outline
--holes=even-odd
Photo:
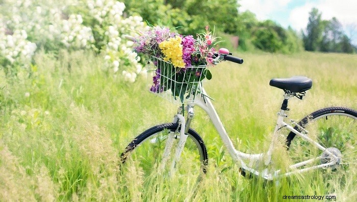
[[[207,66],[219,61],[215,56],[217,37],[206,26],[206,32],[193,36],[182,36],[168,28],[155,26],[134,40],[134,51],[149,58],[155,70],[151,92],[162,93],[171,90],[176,100],[196,95],[198,85],[212,75]],[[186,95],[186,96],[185,96]]]

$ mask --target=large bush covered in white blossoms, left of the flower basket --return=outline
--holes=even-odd
[[[105,69],[134,82],[142,70],[140,57],[125,35],[145,31],[139,16],[124,17],[115,0],[4,0],[0,6],[0,62],[9,68],[29,67],[37,49],[90,49],[106,59]],[[135,30],[135,32],[134,32]],[[37,46],[36,46],[37,45]]]

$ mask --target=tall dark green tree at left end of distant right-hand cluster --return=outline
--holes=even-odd
[[[321,13],[317,8],[313,8],[308,17],[306,34],[303,33],[303,42],[305,50],[319,50],[322,40],[323,24],[321,21]]]

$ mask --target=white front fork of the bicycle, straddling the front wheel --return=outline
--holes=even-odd
[[[177,144],[177,148],[175,151],[175,157],[173,159],[173,162],[171,163],[171,168],[170,168],[170,176],[174,175],[175,169],[176,169],[176,164],[180,160],[181,153],[183,151],[183,148],[185,146],[187,136],[188,136],[188,129],[189,125],[191,124],[192,119],[194,118],[194,109],[192,106],[187,106],[187,121],[182,115],[182,107],[179,107],[177,110],[177,114],[174,117],[173,123],[179,123],[179,127],[176,129],[175,132],[170,132],[168,136],[168,140],[166,141],[165,149],[163,152],[163,157],[162,157],[162,163],[160,165],[160,170],[163,170],[166,162],[168,161],[171,152],[172,152],[172,147],[174,143],[174,139],[179,138],[179,142]],[[180,130],[179,130],[180,129]],[[177,136],[176,134],[180,133],[180,136]]]

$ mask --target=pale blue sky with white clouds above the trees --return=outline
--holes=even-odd
[[[356,0],[239,0],[240,11],[250,10],[259,20],[271,19],[296,31],[305,30],[308,13],[317,8],[321,18],[336,17],[343,25],[348,37],[357,45],[357,1]]]

